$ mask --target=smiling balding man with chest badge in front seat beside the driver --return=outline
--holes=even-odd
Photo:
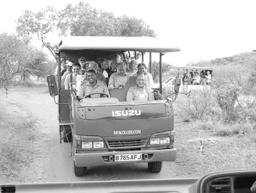
[[[129,88],[126,101],[154,100],[154,91],[146,86],[146,77],[142,73],[136,78],[136,86]]]

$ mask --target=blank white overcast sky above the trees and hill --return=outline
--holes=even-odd
[[[63,8],[83,0],[44,0],[1,2],[0,30],[15,33],[15,20],[23,10],[46,6]],[[89,0],[91,6],[114,15],[141,18],[157,33],[157,38],[180,47],[164,56],[173,65],[232,56],[256,49],[256,1],[142,1]]]

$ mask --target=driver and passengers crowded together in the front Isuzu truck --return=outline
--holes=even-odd
[[[57,74],[58,69],[56,69]],[[80,74],[84,75],[84,79],[77,85],[77,75]],[[145,63],[138,64],[132,59],[122,61],[119,54],[113,56],[111,61],[99,58],[97,62],[86,61],[84,57],[79,58],[78,62],[65,61],[65,58],[61,58],[61,86],[65,89],[76,89],[79,100],[90,93],[105,93],[109,96],[111,89],[124,89],[131,76],[136,77],[136,86],[129,88],[126,100],[154,100],[154,91],[151,89],[154,81],[152,75],[147,72]],[[107,82],[106,79],[109,81]],[[91,97],[100,97],[100,95]]]

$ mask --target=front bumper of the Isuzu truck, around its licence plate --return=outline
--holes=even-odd
[[[115,155],[142,154],[142,160],[115,162]],[[111,158],[112,157],[112,158]],[[173,162],[177,158],[177,149],[143,150],[143,151],[109,151],[100,153],[75,153],[74,161],[77,167],[104,166],[109,164],[139,163],[139,162]]]

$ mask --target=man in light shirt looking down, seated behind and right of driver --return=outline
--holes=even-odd
[[[126,66],[124,62],[120,62],[117,65],[117,72],[113,73],[108,82],[109,89],[123,89],[125,83],[128,81],[130,75],[126,73]]]

